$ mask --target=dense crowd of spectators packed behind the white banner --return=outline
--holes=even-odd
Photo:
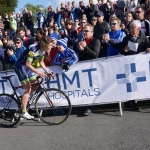
[[[36,32],[35,18],[38,24]],[[149,51],[149,21],[150,0],[98,0],[97,4],[89,0],[87,6],[84,1],[79,4],[61,2],[56,11],[52,5],[48,6],[47,14],[40,8],[33,15],[25,8],[16,15],[12,12],[3,18],[0,16],[0,71],[13,69],[22,51],[38,43],[45,35],[53,43],[52,49],[45,53],[47,66],[57,65],[55,60],[60,51],[57,44],[64,38],[67,39],[66,46],[78,56],[78,61]],[[129,41],[138,43],[137,50],[130,49]],[[38,67],[38,62],[34,66]],[[135,109],[139,109],[137,105]]]

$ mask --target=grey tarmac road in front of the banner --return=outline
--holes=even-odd
[[[23,120],[0,139],[0,150],[150,150],[150,109],[79,112],[58,126]]]

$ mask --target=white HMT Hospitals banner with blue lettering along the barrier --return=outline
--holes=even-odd
[[[72,105],[113,103],[150,97],[150,54],[109,57],[77,63],[63,72],[58,66],[49,67],[56,73],[47,88],[64,91]],[[7,74],[15,74],[8,72]],[[6,73],[0,73],[5,76]],[[12,77],[20,85],[17,76]],[[22,90],[18,91],[20,94]],[[8,81],[0,78],[0,93],[12,93]]]

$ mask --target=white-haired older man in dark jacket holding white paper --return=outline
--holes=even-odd
[[[130,24],[130,34],[123,38],[123,41],[120,43],[114,43],[113,40],[109,38],[109,36],[105,36],[105,41],[109,42],[115,48],[120,50],[121,54],[124,55],[134,55],[144,51],[150,51],[149,42],[145,35],[141,33],[141,22],[139,20],[134,20]],[[129,46],[129,42],[132,44],[138,43],[137,49],[131,49]],[[134,109],[139,111],[140,108],[137,104],[137,101],[133,101]]]

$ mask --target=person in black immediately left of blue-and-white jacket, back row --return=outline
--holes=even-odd
[[[28,24],[31,35],[34,37],[34,16],[32,14],[32,11],[29,11],[28,13]]]

